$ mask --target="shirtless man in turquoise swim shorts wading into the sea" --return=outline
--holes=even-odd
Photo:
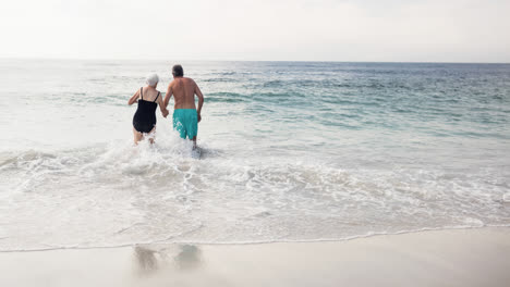
[[[174,65],[172,74],[173,80],[168,85],[163,107],[168,107],[168,102],[173,96],[173,128],[179,132],[181,138],[187,137],[193,140],[193,149],[196,149],[204,95],[192,78],[184,77],[181,65]],[[198,97],[198,109],[195,107],[195,95]]]

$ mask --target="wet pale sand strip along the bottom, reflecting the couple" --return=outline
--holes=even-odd
[[[0,286],[508,286],[510,228],[0,253]]]

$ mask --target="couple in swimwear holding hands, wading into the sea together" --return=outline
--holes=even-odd
[[[198,122],[201,122],[201,111],[204,104],[204,95],[196,83],[189,77],[184,77],[184,70],[181,65],[172,67],[173,80],[168,85],[165,100],[156,89],[159,77],[153,74],[147,77],[146,87],[139,88],[127,104],[138,102],[138,108],[133,116],[134,142],[137,145],[145,136],[150,144],[154,142],[156,132],[156,108],[159,105],[165,117],[168,116],[168,102],[173,96],[173,129],[178,130],[181,138],[193,140],[193,148],[196,148],[196,136],[198,134]],[[195,107],[195,95],[198,97],[198,109]]]

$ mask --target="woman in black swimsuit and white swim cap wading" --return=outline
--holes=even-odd
[[[165,108],[160,92],[156,89],[158,82],[158,75],[149,75],[146,79],[147,87],[139,88],[139,90],[137,90],[127,101],[129,105],[138,102],[138,109],[136,109],[136,113],[133,116],[133,135],[135,145],[137,145],[145,136],[148,136],[150,144],[154,144],[156,132],[156,108],[158,104],[165,117],[169,113]]]

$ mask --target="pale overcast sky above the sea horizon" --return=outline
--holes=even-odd
[[[510,62],[510,0],[15,0],[0,58]]]

